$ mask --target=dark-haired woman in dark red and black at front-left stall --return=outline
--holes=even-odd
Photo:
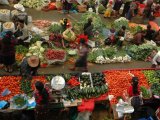
[[[44,84],[40,81],[35,83],[36,90],[34,91],[34,97],[36,100],[35,119],[36,120],[48,120],[48,103],[49,93],[44,87]]]

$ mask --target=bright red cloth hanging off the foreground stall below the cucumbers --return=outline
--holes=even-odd
[[[84,112],[84,111],[92,112],[93,110],[94,110],[94,99],[82,100],[82,104],[78,106],[79,112]]]

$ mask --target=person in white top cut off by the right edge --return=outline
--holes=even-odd
[[[160,51],[154,49],[152,53],[155,55],[152,59],[152,68],[160,67]]]

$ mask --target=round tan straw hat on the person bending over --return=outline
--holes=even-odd
[[[38,67],[40,60],[38,56],[32,55],[27,59],[27,62],[30,67]]]

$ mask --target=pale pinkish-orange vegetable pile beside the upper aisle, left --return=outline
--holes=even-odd
[[[48,20],[35,20],[33,21],[33,24],[42,29],[42,28],[45,28],[45,27],[49,27],[51,25],[51,22],[48,21]]]

